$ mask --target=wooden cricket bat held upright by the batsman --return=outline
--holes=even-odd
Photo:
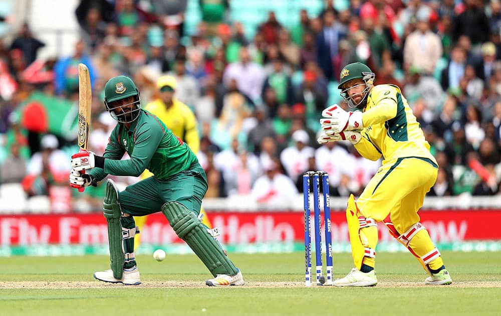
[[[92,89],[89,68],[78,64],[78,145],[80,151],[86,151],[89,145],[89,130],[91,127]],[[85,173],[85,171],[83,171]],[[78,189],[83,192],[84,188]]]

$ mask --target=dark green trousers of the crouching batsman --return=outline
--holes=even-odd
[[[131,215],[121,218],[122,227],[136,227],[133,216],[160,212],[162,206],[171,201],[181,203],[198,216],[205,192],[207,192],[207,177],[198,163],[192,164],[189,170],[178,173],[166,181],[158,181],[154,177],[139,181],[118,194],[122,211]],[[124,248],[126,252],[132,252],[134,238],[125,239]],[[135,264],[135,261],[126,262],[124,268],[133,267]]]

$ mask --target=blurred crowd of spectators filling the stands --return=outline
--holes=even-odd
[[[331,195],[359,194],[380,162],[349,143],[316,143],[322,109],[346,108],[340,70],[359,61],[376,73],[375,84],[402,89],[421,124],[440,166],[429,195],[499,194],[499,0],[326,0],[316,14],[305,8],[288,15],[297,22],[287,26],[270,9],[252,36],[231,19],[243,1],[194,1],[201,21],[188,33],[187,0],[84,0],[75,13],[81,31],[74,54],[47,60],[37,59],[45,44],[25,24],[11,43],[0,43],[2,183],[21,183],[28,196],[67,185],[76,134],[44,132],[51,129],[32,122],[52,126],[50,101],[47,117],[17,109],[34,93],[77,102],[83,62],[93,83],[90,146],[97,153],[116,123],[102,102],[106,80],[131,76],[145,106],[168,74],[177,82],[175,98],[197,118],[207,198],[280,203],[302,191],[307,170],[329,173]],[[102,188],[86,192],[98,208]]]

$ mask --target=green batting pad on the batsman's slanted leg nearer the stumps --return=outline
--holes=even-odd
[[[162,213],[177,236],[188,244],[213,276],[238,273],[233,262],[224,255],[222,248],[209,235],[203,224],[196,218],[195,213],[176,201],[164,204]]]

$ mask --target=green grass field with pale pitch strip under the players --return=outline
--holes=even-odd
[[[299,252],[230,254],[247,285],[229,288],[204,286],[209,274],[191,255],[139,256],[138,286],[95,280],[92,273],[108,267],[104,256],[0,257],[0,314],[499,314],[501,252],[442,255],[450,286],[425,286],[409,253],[379,253],[379,284],[369,288],[306,288]],[[335,277],[353,265],[350,254],[334,262]]]

